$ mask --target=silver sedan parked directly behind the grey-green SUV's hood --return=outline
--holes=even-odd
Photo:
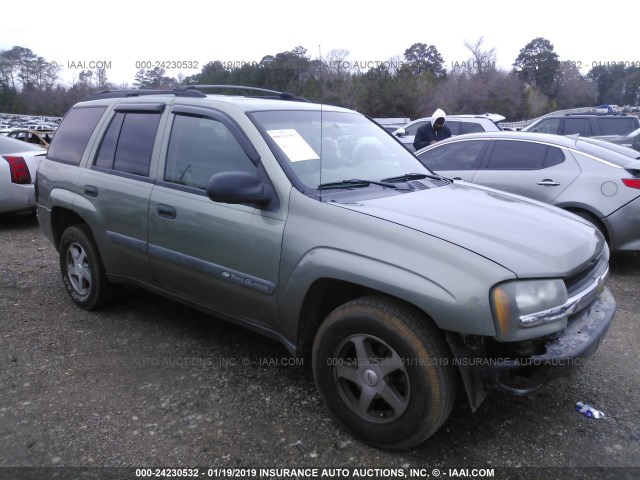
[[[486,132],[452,137],[415,155],[454,180],[571,211],[598,227],[611,250],[640,250],[636,150],[577,135]]]

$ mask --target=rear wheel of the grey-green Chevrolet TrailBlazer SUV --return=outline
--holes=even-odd
[[[67,293],[85,310],[103,307],[111,298],[113,286],[104,272],[100,254],[86,225],[67,228],[58,248],[60,272]]]

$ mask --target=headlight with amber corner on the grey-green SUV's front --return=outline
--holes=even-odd
[[[560,279],[519,280],[500,284],[491,291],[491,305],[498,340],[524,340],[557,331],[563,325],[550,325],[541,332],[527,328],[565,320],[569,311],[567,289]]]

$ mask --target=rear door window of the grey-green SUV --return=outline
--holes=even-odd
[[[148,176],[159,122],[159,113],[116,113],[93,164],[108,170]]]

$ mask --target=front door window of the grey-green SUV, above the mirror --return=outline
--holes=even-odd
[[[211,118],[175,116],[165,181],[204,190],[212,175],[233,171],[255,174],[257,168],[224,124]]]

